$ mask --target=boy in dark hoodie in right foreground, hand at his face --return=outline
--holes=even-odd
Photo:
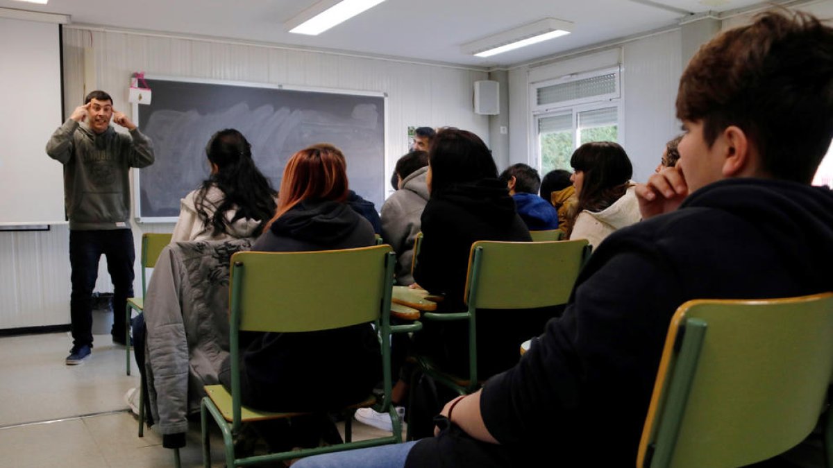
[[[833,192],[810,185],[831,76],[833,28],[809,15],[767,12],[706,43],[680,80],[680,161],[637,188],[646,221],[599,246],[521,361],[450,401],[436,437],[294,468],[634,466],[678,306],[833,288]]]

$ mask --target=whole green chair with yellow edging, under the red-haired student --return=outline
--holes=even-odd
[[[226,466],[281,461],[333,451],[381,446],[402,441],[402,426],[391,405],[390,311],[393,266],[391,246],[340,251],[237,252],[231,271],[232,392],[222,385],[206,386],[202,399],[202,460],[211,466],[208,416],[222,431]],[[384,396],[368,396],[344,408],[345,443],[301,451],[287,451],[237,459],[234,436],[244,423],[288,418],[303,413],[272,413],[242,406],[240,401],[240,331],[322,331],[376,322],[382,344]],[[314,343],[312,344],[314,346]],[[333,391],[338,391],[337,385]],[[391,417],[391,436],[352,441],[352,416],[357,408],[373,407]]]

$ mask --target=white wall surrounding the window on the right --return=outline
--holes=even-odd
[[[621,141],[634,165],[634,179],[643,182],[654,171],[665,143],[679,132],[674,115],[681,74],[679,29],[626,42],[605,50],[555,60],[538,67],[509,72],[510,160],[529,162],[535,141],[531,126],[529,85],[621,64],[624,122]]]

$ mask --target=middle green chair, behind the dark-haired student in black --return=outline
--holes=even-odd
[[[477,380],[477,309],[531,309],[566,304],[581,267],[590,257],[585,239],[576,241],[498,242],[471,245],[466,280],[467,311],[424,312],[423,321],[468,321],[469,375],[442,371],[426,356],[416,356],[419,371],[460,395],[475,391]],[[541,271],[551,271],[550,275]]]

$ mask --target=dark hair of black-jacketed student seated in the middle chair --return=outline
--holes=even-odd
[[[486,143],[472,132],[441,128],[428,152],[431,197],[455,184],[496,178],[497,167]]]

